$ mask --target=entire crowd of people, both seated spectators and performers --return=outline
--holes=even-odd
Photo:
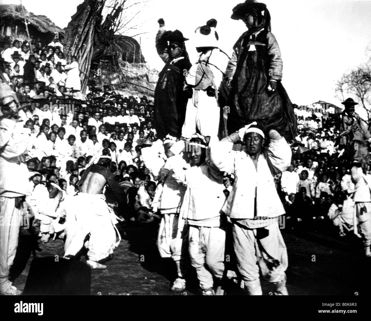
[[[275,295],[288,294],[282,228],[356,234],[371,256],[371,134],[356,103],[345,101],[341,116],[296,117],[265,4],[246,0],[232,19],[248,28],[232,58],[219,49],[211,19],[196,29],[195,64],[188,39],[158,20],[156,49],[165,66],[153,103],[95,81],[82,94],[77,58],[67,64],[58,39],[6,39],[1,215],[31,217],[41,243],[65,240],[66,259],[85,246],[92,269],[106,269],[112,259],[118,221],[159,225],[160,255],[177,266],[173,292],[186,289],[190,261],[202,294],[223,295],[228,231],[234,273],[250,295],[262,294],[260,276]],[[14,228],[5,232],[1,293],[19,294],[8,280],[18,236]]]

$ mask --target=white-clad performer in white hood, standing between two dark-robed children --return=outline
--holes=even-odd
[[[220,120],[218,89],[230,58],[219,49],[216,25],[217,21],[210,19],[205,26],[195,30],[194,40],[200,55],[185,77],[187,87],[191,88],[192,93],[188,99],[182,128],[182,136],[185,139],[190,139],[196,134],[196,129],[207,142],[210,136],[218,134]]]

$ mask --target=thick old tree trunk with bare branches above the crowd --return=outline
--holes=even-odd
[[[123,75],[122,61],[145,62],[140,44],[132,37],[142,34],[138,30],[143,21],[138,15],[147,2],[85,0],[78,6],[67,26],[65,48],[68,59],[78,58],[82,92],[89,79],[101,76],[101,62],[111,62],[112,70]]]

